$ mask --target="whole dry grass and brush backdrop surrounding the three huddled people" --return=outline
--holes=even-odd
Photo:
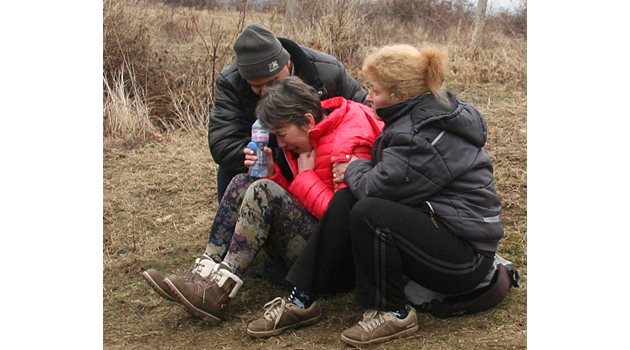
[[[488,120],[486,149],[506,229],[500,254],[525,283],[488,312],[450,320],[420,315],[418,334],[395,346],[525,348],[526,3],[489,17],[477,51],[469,47],[474,8],[466,1],[298,1],[289,16],[286,8],[283,1],[104,0],[105,347],[336,349],[339,333],[359,316],[352,295],[342,295],[323,301],[326,316],[318,325],[255,341],[244,327],[265,302],[285,293],[279,287],[248,276],[230,319],[210,327],[141,279],[149,267],[181,271],[203,251],[216,209],[216,168],[206,140],[213,83],[233,59],[236,35],[257,22],[335,55],[361,82],[361,61],[372,47],[431,42],[448,48],[447,88]]]

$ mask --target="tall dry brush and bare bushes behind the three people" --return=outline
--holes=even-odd
[[[142,92],[138,100],[159,132],[204,130],[217,75],[234,57],[236,36],[253,22],[336,56],[359,81],[362,60],[372,47],[436,43],[449,49],[454,86],[496,82],[523,87],[527,82],[526,5],[520,12],[490,17],[481,52],[469,57],[462,47],[470,41],[474,14],[463,0],[298,0],[298,10],[289,18],[285,1],[232,0],[228,5],[233,9],[226,10],[104,0],[104,91],[115,91],[116,79],[122,77],[130,98]],[[279,8],[257,10],[270,4]],[[283,32],[286,23],[292,31]]]

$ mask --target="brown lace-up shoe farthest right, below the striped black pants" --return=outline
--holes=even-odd
[[[341,333],[341,340],[361,347],[408,336],[418,330],[418,319],[416,310],[407,307],[409,314],[404,319],[399,319],[393,312],[368,310],[358,324]]]

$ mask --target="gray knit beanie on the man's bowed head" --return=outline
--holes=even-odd
[[[280,41],[260,24],[251,24],[234,42],[236,65],[241,78],[253,80],[272,76],[289,62]]]

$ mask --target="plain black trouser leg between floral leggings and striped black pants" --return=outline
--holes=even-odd
[[[347,188],[335,193],[306,248],[287,274],[287,281],[313,298],[354,287],[348,219],[355,202]]]

